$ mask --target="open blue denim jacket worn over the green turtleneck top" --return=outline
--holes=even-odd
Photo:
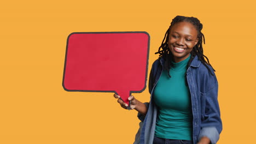
[[[152,66],[149,76],[150,102],[146,117],[138,113],[141,119],[140,128],[134,143],[151,144],[155,133],[155,123],[158,109],[152,100],[152,91],[162,74],[164,59],[157,59]],[[213,69],[209,66],[212,73]],[[207,136],[211,143],[217,143],[222,131],[222,121],[218,104],[218,81],[216,75],[211,75],[205,65],[196,56],[187,69],[187,81],[191,95],[193,112],[193,142],[196,144],[202,136]]]

